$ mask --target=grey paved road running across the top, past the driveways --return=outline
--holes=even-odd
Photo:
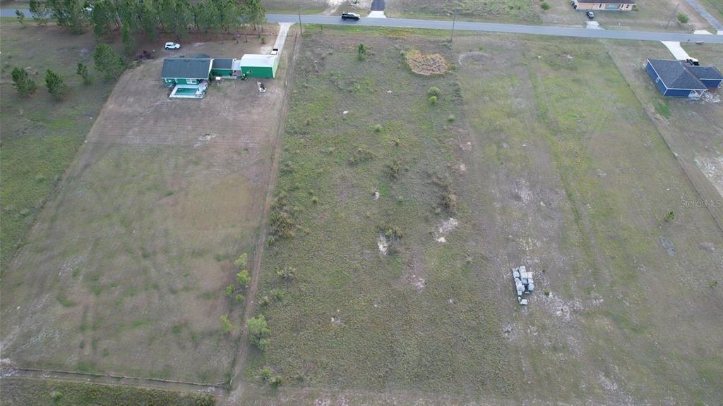
[[[30,15],[27,9],[21,9]],[[0,17],[15,17],[14,9],[0,9]],[[296,14],[266,14],[269,22],[299,22]],[[424,28],[428,30],[451,30],[451,21],[442,20],[412,20],[408,18],[362,18],[359,21],[341,20],[338,16],[302,15],[304,24],[324,25],[361,25],[367,27],[400,27]],[[685,33],[667,33],[657,31],[627,31],[627,30],[587,30],[586,28],[572,27],[545,27],[542,25],[516,25],[498,24],[494,22],[457,21],[455,30],[479,31],[486,33],[513,33],[532,35],[557,35],[577,38],[607,38],[612,40],[646,40],[646,41],[678,41],[682,43],[705,41],[706,43],[723,44],[723,35],[701,35]]]

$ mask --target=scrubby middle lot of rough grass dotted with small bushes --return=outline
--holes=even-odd
[[[468,255],[469,210],[445,203],[460,90],[452,73],[413,74],[412,49],[450,61],[416,35],[304,38],[260,281],[262,298],[283,299],[260,308],[271,344],[252,352],[247,379],[270,366],[289,385],[514,392],[495,300]],[[450,216],[458,228],[435,241]],[[277,275],[287,267],[291,280]]]

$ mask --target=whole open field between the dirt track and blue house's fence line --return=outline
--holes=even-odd
[[[378,404],[722,396],[723,236],[681,206],[696,191],[604,45],[329,32],[295,68],[272,223],[288,238],[262,262],[271,345],[247,366],[287,392],[255,405],[294,388]],[[412,48],[452,72],[412,74]],[[539,284],[527,308],[521,264]]]

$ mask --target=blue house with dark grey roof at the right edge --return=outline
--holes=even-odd
[[[696,66],[688,61],[648,59],[646,72],[664,96],[700,98],[721,87],[723,74],[713,66]]]

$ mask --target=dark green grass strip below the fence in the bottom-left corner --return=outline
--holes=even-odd
[[[4,378],[0,405],[25,406],[213,406],[208,394],[181,394],[132,386]]]

